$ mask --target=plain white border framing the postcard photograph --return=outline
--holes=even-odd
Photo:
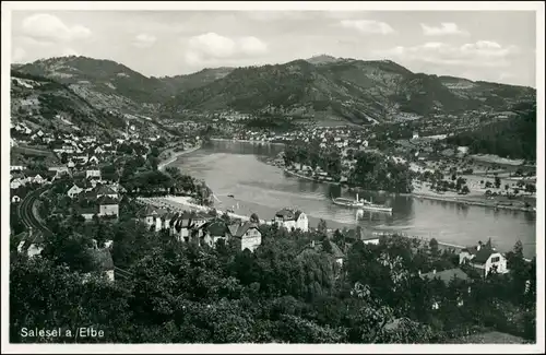
[[[536,253],[537,253],[537,344],[536,345],[280,345],[280,344],[229,344],[229,345],[16,345],[9,344],[9,117],[10,117],[10,58],[11,58],[11,11],[13,10],[382,10],[382,11],[449,11],[449,10],[483,10],[483,11],[537,11],[536,16],[536,92],[537,92],[537,220],[536,220]],[[2,354],[3,353],[544,353],[544,2],[542,1],[503,1],[503,2],[425,2],[425,1],[393,1],[393,2],[121,2],[121,1],[4,1],[2,2]],[[507,23],[507,26],[511,24]]]

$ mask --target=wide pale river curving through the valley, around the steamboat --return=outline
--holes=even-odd
[[[365,192],[360,194],[363,198],[392,206],[392,214],[367,211],[358,214],[356,210],[334,205],[331,200],[340,196],[354,199],[354,192],[293,177],[262,162],[263,157],[276,156],[281,151],[282,145],[213,141],[180,156],[173,165],[182,174],[205,180],[217,198],[215,206],[223,211],[233,209],[245,215],[256,212],[269,221],[276,211],[295,208],[308,215],[310,226],[317,226],[322,218],[329,228],[360,225],[370,233],[396,232],[458,246],[491,238],[500,251],[512,250],[515,241],[521,240],[525,257],[535,256],[534,213]]]

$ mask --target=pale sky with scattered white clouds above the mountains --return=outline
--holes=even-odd
[[[12,62],[80,55],[147,76],[327,54],[535,87],[533,11],[13,11]]]

